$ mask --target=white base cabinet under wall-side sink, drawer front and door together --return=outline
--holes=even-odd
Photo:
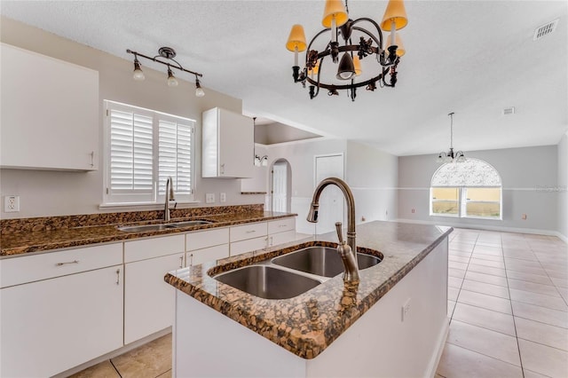
[[[173,324],[175,290],[163,277],[184,257],[182,234],[124,243],[124,344]]]

